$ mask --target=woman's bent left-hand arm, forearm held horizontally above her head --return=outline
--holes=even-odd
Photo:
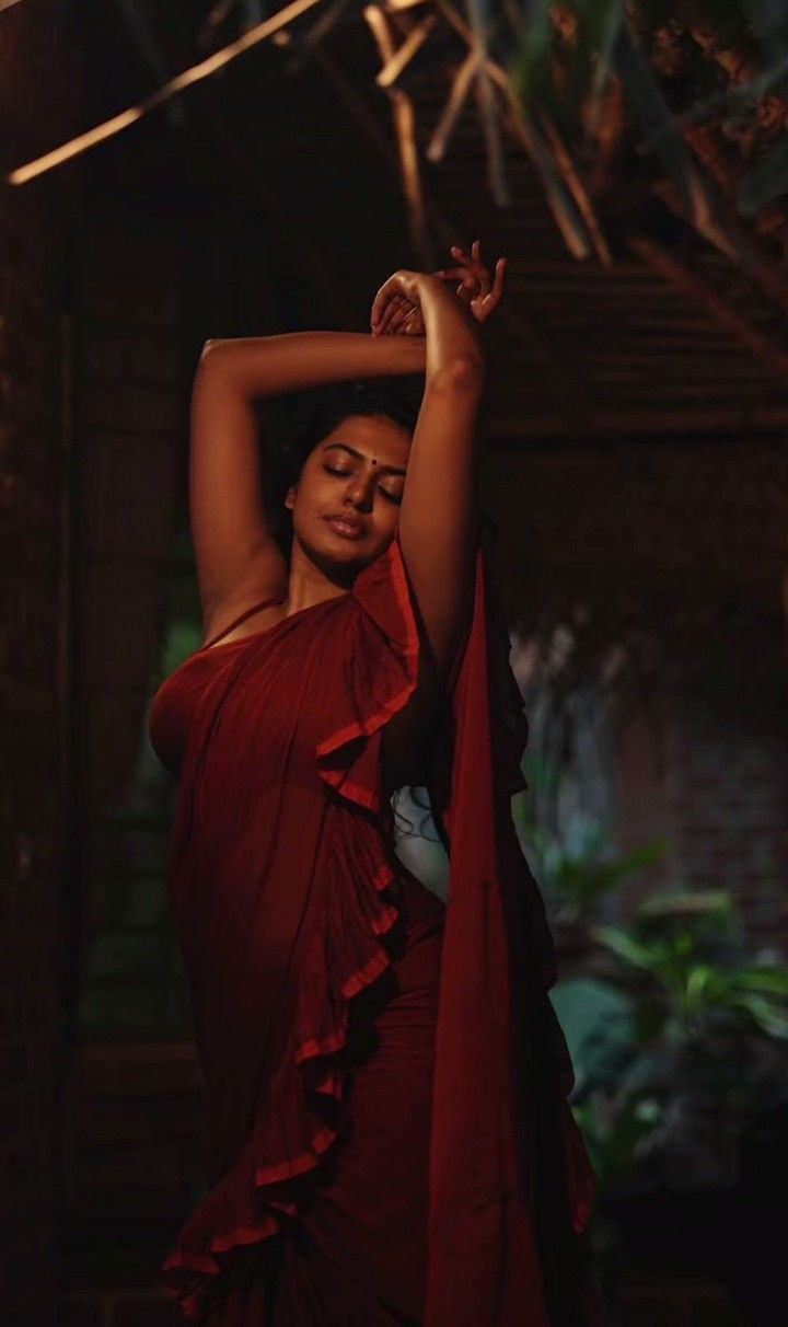
[[[418,373],[425,342],[353,332],[208,341],[191,398],[190,512],[206,632],[283,593],[288,568],[265,519],[252,402],[298,387]]]

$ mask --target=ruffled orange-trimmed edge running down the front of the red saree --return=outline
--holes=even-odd
[[[358,608],[360,650],[366,644],[377,666],[358,675],[350,669],[349,710],[336,715],[337,726],[317,743],[316,764],[333,794],[363,811],[378,811],[379,751],[369,739],[407,703],[419,664],[418,628],[397,540],[357,577],[352,596]],[[358,653],[353,662],[360,662]],[[379,852],[370,845],[371,839],[365,848],[366,897],[354,916],[354,961],[342,971],[332,971],[330,997],[326,991],[332,1026],[326,1031],[297,1019],[288,1055],[272,1082],[273,1104],[267,1117],[298,1115],[301,1147],[273,1158],[269,1140],[265,1148],[261,1139],[265,1119],[257,1120],[241,1156],[192,1212],[162,1266],[164,1287],[190,1322],[211,1316],[220,1294],[219,1278],[233,1250],[261,1243],[297,1217],[298,1181],[322,1162],[338,1137],[345,1071],[337,1056],[348,1042],[350,1002],[390,966],[383,937],[399,917],[387,896],[395,876],[393,864],[382,844]],[[322,1100],[320,1115],[309,1111],[313,1093]],[[328,1121],[326,1105],[333,1111]],[[265,1151],[268,1158],[261,1164],[260,1153]],[[247,1204],[241,1220],[236,1212],[240,1190]]]

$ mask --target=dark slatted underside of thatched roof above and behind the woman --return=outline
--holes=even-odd
[[[164,62],[183,68],[194,16],[186,32],[164,0],[142,8]],[[150,90],[117,13],[97,8],[77,37],[93,118]],[[456,58],[451,36],[435,41],[409,84],[422,150]],[[263,45],[183,96],[184,129],[157,113],[98,149],[92,170],[110,188],[147,188],[170,215],[180,207],[184,223],[200,208],[257,210],[272,243],[306,264],[316,322],[365,326],[377,284],[419,261],[378,70],[369,27],[348,9],[298,68],[287,45]],[[512,583],[531,606],[574,584],[639,600],[646,616],[657,602],[670,613],[706,601],[773,618],[787,556],[783,308],[654,200],[647,243],[631,244],[627,180],[626,235],[608,216],[612,264],[576,261],[524,147],[504,149],[505,208],[470,100],[444,159],[422,161],[422,180],[438,261],[474,236],[490,257],[509,255],[505,313],[488,336],[486,433]]]

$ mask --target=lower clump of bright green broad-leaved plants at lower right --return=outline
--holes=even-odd
[[[618,971],[555,1003],[600,1180],[732,1178],[742,1124],[788,1095],[788,967],[751,959],[723,890],[662,890],[593,934]]]

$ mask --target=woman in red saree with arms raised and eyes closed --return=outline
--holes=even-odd
[[[505,261],[491,283],[478,243],[452,255],[394,273],[370,336],[208,342],[195,380],[206,641],[150,731],[179,779],[168,874],[214,1172],[164,1274],[212,1327],[600,1320],[593,1174],[508,809],[524,721],[478,547],[479,325]],[[413,430],[379,389],[334,409],[287,494],[288,567],[252,402],[421,372]],[[448,908],[394,855],[406,783],[430,787]]]

